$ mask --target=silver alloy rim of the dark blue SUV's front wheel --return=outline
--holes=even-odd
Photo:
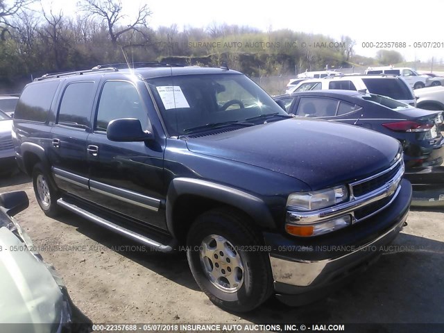
[[[244,263],[230,241],[210,234],[200,244],[200,264],[214,287],[228,293],[238,291],[244,283]]]

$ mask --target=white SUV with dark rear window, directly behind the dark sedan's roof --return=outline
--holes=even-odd
[[[302,81],[287,92],[306,92],[316,89],[357,90],[382,96],[388,96],[406,104],[416,106],[413,91],[400,76],[386,75],[350,75],[330,78],[311,78]]]

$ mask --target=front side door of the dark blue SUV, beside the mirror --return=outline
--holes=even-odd
[[[148,108],[154,105],[146,95],[148,91],[141,81],[105,80],[101,83],[93,132],[87,138],[89,187],[96,204],[165,229],[164,216],[158,213],[164,201],[165,140],[111,142],[106,135],[110,121],[121,118],[139,119],[142,128],[151,129]]]

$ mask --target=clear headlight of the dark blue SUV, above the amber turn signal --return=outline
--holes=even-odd
[[[292,210],[321,210],[348,200],[348,189],[344,185],[322,189],[321,191],[292,193],[287,199],[287,207]]]

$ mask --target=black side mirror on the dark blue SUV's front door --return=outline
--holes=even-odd
[[[153,134],[142,130],[139,119],[114,119],[108,124],[106,137],[115,142],[137,142],[153,139]]]

